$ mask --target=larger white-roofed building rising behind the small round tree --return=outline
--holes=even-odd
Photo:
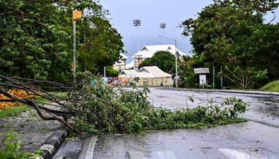
[[[151,58],[156,52],[159,51],[170,52],[175,55],[175,45],[145,45],[142,50],[140,50],[133,56],[133,63],[129,63],[128,67],[138,70],[139,65],[140,63],[142,63],[142,61],[147,58]],[[181,52],[179,49],[177,49],[176,51],[179,55],[179,59],[182,60],[183,56],[186,56],[186,54],[184,52]]]

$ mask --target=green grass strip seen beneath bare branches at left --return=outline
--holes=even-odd
[[[64,92],[57,93],[57,95],[60,97],[66,97],[66,93],[64,93]],[[35,100],[38,103],[52,103],[52,101],[46,100],[45,98],[36,98]],[[27,105],[20,105],[20,106],[8,108],[8,109],[1,109],[0,110],[0,119],[6,118],[9,116],[18,116],[22,112],[26,112],[29,109],[31,109],[31,107],[28,107]]]

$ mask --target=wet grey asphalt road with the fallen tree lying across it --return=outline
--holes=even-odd
[[[186,104],[187,96],[192,96],[195,102],[188,101]],[[86,144],[77,141],[74,146],[71,141],[70,148],[80,149],[80,152],[68,156],[67,151],[64,151],[56,157],[86,158],[87,154],[87,158],[132,159],[279,158],[279,96],[154,88],[151,88],[149,95],[154,106],[168,109],[204,105],[211,98],[220,102],[229,96],[242,98],[250,104],[249,110],[243,114],[248,122],[209,129],[158,130],[144,136],[103,134],[93,141],[94,146],[90,144],[90,137],[84,139]],[[64,147],[67,145],[66,142]]]

